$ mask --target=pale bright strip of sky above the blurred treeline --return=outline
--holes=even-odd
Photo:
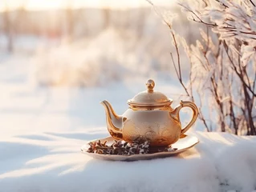
[[[175,0],[151,0],[156,6],[171,6]],[[25,5],[26,10],[59,9],[67,6],[109,7],[125,9],[130,7],[150,6],[146,0],[0,0],[0,10],[15,10]]]

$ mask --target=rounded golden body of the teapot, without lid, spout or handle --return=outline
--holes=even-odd
[[[148,141],[150,146],[168,146],[181,136],[181,122],[173,118],[170,107],[153,110],[129,108],[122,115],[126,142]]]

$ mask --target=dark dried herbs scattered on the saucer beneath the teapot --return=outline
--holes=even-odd
[[[171,146],[165,147],[150,147],[148,142],[143,143],[128,143],[121,140],[114,141],[111,146],[106,142],[89,142],[88,153],[95,154],[119,154],[119,155],[132,155],[132,154],[153,154],[157,152],[170,152],[175,151],[177,148]]]

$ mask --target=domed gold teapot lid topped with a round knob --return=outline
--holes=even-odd
[[[171,104],[171,100],[159,91],[153,90],[155,82],[148,79],[146,82],[148,90],[136,94],[132,99],[128,100],[131,106],[167,106]]]

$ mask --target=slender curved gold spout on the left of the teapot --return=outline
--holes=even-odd
[[[104,106],[106,112],[106,121],[109,134],[111,134],[113,138],[122,139],[122,117],[116,114],[108,101],[104,100],[103,102],[100,102],[100,104]]]

